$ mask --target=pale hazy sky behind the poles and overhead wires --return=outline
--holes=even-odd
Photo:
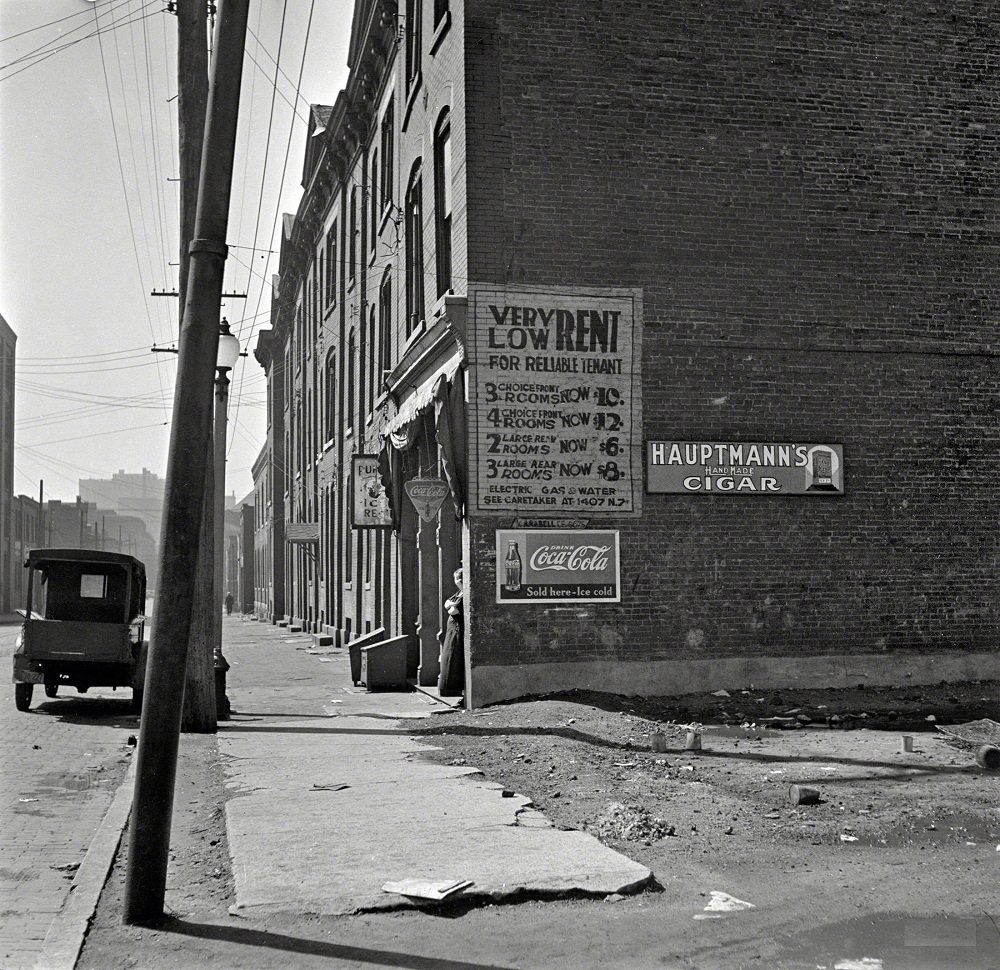
[[[309,104],[332,104],[346,82],[352,11],[352,0],[250,0],[224,284],[247,299],[222,308],[250,351],[229,409],[226,491],[239,498],[265,440],[252,350],[280,213],[302,194]],[[165,0],[0,3],[15,493],[37,495],[44,479],[46,498],[73,501],[81,478],[166,474],[176,357],[150,348],[176,345],[177,301],[149,294],[177,287],[176,32]]]

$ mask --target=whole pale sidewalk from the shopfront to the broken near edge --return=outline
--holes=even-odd
[[[233,912],[345,914],[420,905],[382,891],[469,879],[465,895],[627,892],[651,873],[583,832],[554,828],[473,767],[421,757],[406,721],[444,714],[420,693],[351,685],[346,651],[232,617],[219,726]],[[339,788],[338,786],[346,786]]]

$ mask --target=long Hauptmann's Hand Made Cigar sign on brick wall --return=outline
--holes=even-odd
[[[671,495],[843,495],[844,446],[649,441],[646,489]]]

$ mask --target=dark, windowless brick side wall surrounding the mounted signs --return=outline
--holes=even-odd
[[[474,521],[474,662],[995,650],[992,8],[465,14],[470,278],[641,286],[647,439],[843,443],[847,491],[647,495],[571,612],[493,605]]]

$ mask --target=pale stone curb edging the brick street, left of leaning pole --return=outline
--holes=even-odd
[[[132,810],[137,764],[138,758],[133,754],[125,778],[118,786],[118,791],[90,842],[87,854],[80,863],[66,905],[56,914],[45,934],[45,943],[35,961],[35,970],[73,970],[76,966]]]

